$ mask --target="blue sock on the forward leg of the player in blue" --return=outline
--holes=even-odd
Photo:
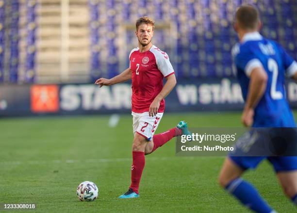
[[[247,208],[257,213],[271,213],[272,209],[250,183],[237,178],[231,181],[225,189],[238,198]]]

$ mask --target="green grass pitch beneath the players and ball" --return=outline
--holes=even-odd
[[[241,126],[238,113],[165,113],[157,133],[185,120],[191,127]],[[223,157],[176,157],[175,140],[146,156],[140,198],[118,199],[130,184],[132,116],[115,128],[109,116],[0,120],[0,203],[35,203],[29,212],[221,213],[249,212],[217,183]],[[272,167],[263,162],[244,178],[280,213],[296,212]],[[83,181],[99,187],[81,202]],[[20,212],[20,211],[5,211]],[[27,211],[28,212],[28,211]]]

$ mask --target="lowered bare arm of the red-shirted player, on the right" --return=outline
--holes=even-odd
[[[160,93],[155,97],[153,102],[149,106],[148,115],[157,115],[158,109],[160,107],[160,102],[172,91],[176,85],[176,78],[174,73],[166,77],[166,83]]]

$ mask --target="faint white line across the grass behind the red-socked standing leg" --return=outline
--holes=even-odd
[[[146,160],[173,160],[173,159],[189,159],[193,160],[195,157],[147,157]],[[21,165],[21,164],[73,164],[73,163],[113,163],[131,161],[132,158],[99,158],[99,159],[86,159],[86,160],[49,160],[49,161],[4,161],[0,165]]]

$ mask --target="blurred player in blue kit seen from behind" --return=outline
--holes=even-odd
[[[241,120],[251,127],[296,127],[286,100],[284,81],[285,76],[297,80],[297,62],[279,44],[264,38],[258,32],[260,28],[256,8],[243,5],[237,10],[234,29],[240,43],[233,47],[232,56],[245,100]],[[255,187],[240,178],[264,159],[274,167],[286,196],[297,205],[296,156],[239,156],[235,151],[223,164],[218,179],[220,185],[254,212],[274,213]]]

